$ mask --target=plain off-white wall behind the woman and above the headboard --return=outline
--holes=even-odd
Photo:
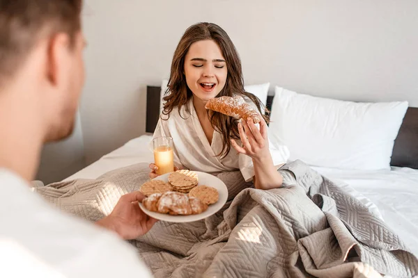
[[[418,106],[416,0],[86,0],[88,163],[144,133],[146,85],[169,76],[196,22],[222,26],[246,83],[355,101]]]

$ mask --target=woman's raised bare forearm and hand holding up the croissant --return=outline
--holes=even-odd
[[[248,122],[241,120],[241,123],[238,124],[238,131],[242,147],[238,146],[235,140],[231,140],[231,143],[237,152],[252,158],[255,174],[254,186],[264,190],[281,187],[283,177],[277,172],[270,154],[267,124],[261,120],[260,130],[258,130],[251,119]]]

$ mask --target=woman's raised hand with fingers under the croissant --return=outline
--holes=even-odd
[[[240,139],[242,147],[237,142],[231,139],[234,149],[240,154],[246,154],[253,158],[254,161],[263,161],[266,158],[271,158],[268,146],[267,124],[263,119],[260,122],[260,130],[250,118],[248,122],[240,121],[238,124],[238,131],[240,132]]]

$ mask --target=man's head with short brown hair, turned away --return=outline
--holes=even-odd
[[[32,101],[45,141],[72,133],[84,84],[81,9],[82,0],[0,0],[0,97]],[[13,92],[22,84],[29,90]]]

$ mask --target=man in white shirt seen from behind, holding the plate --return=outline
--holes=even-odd
[[[29,188],[42,144],[72,133],[84,83],[81,7],[82,0],[0,0],[0,277],[149,276],[121,239],[156,222],[139,208],[141,193],[121,197],[94,225]]]

